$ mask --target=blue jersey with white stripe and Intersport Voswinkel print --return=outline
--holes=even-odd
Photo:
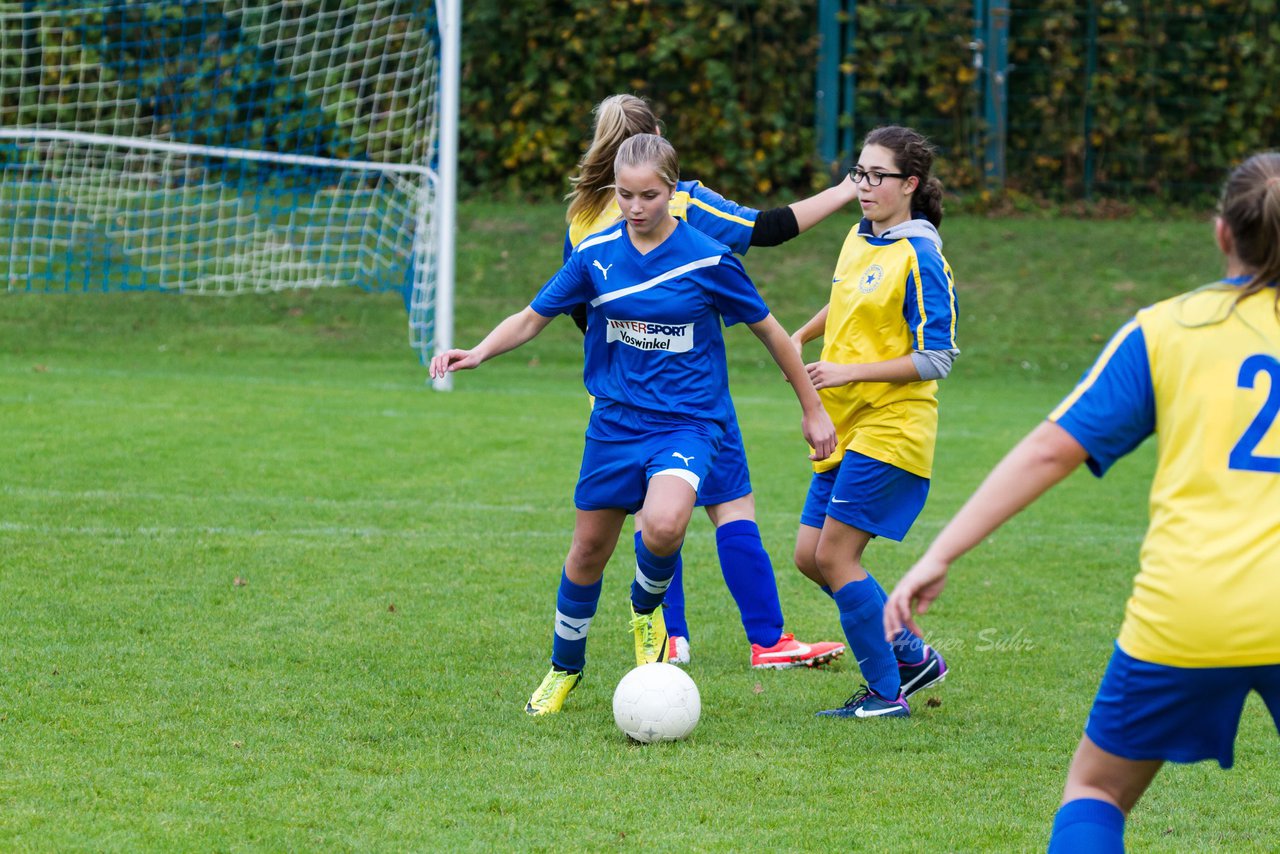
[[[769,309],[728,247],[677,220],[641,254],[618,223],[582,241],[530,307],[549,318],[582,303],[582,380],[598,406],[733,420],[721,321],[756,323]]]

